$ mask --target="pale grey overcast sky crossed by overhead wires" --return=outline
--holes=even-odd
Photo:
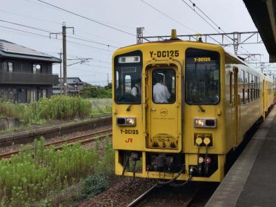
[[[107,83],[107,74],[110,81],[112,52],[116,48],[135,44],[137,27],[145,28],[144,36],[169,35],[172,28],[177,29],[177,34],[216,33],[212,27],[184,3],[186,1],[192,6],[189,0],[144,0],[144,2],[141,0],[43,1],[124,31],[119,32],[99,23],[88,21],[47,6],[37,0],[1,1],[0,20],[21,23],[50,32],[61,32],[62,23],[66,22],[66,26],[75,28],[75,34],[72,34],[72,30],[67,30],[68,36],[102,43],[103,45],[68,38],[68,41],[74,43],[68,42],[67,44],[68,59],[75,59],[76,57],[92,58],[89,63],[69,66],[68,77],[80,77],[83,81],[100,84],[101,86]],[[145,2],[160,12],[148,6]],[[193,2],[225,32],[257,30],[242,0],[193,0]],[[161,14],[161,12],[164,14]],[[8,28],[3,28],[3,26]],[[19,32],[18,30],[34,32],[47,37]],[[55,39],[55,35],[52,36],[52,39],[48,36],[48,32],[0,21],[0,39],[6,39],[21,46],[59,57],[57,53],[62,48],[62,41]],[[61,37],[59,36],[59,38]],[[109,47],[104,44],[109,45]],[[226,50],[234,53],[232,47],[226,47]],[[247,51],[261,53],[264,55],[262,61],[268,61],[266,48],[262,44],[245,45],[239,48],[239,53]],[[74,62],[76,61],[68,61],[68,65]],[[59,73],[58,65],[54,66],[53,72]]]

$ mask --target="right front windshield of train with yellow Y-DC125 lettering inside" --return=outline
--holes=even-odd
[[[220,99],[219,53],[186,50],[186,102],[217,104]]]

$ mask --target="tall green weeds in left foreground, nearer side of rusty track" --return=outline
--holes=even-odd
[[[85,177],[83,197],[101,193],[114,174],[114,151],[108,140],[103,155],[99,144],[89,149],[74,144],[56,151],[44,148],[41,138],[34,141],[33,148],[21,148],[10,161],[1,159],[0,206],[54,206],[63,189]],[[95,183],[99,186],[90,186]]]

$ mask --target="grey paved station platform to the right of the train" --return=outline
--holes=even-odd
[[[206,206],[276,206],[276,107]]]

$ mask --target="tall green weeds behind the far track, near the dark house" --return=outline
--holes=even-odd
[[[30,104],[0,101],[0,117],[17,117],[24,126],[29,127],[34,124],[41,125],[49,120],[78,121],[111,112],[111,99],[83,99],[53,95],[50,99],[43,98]]]

